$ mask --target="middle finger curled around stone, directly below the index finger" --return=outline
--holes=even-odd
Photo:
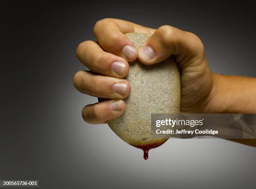
[[[77,57],[92,72],[101,75],[123,78],[129,71],[129,64],[125,59],[103,51],[94,41],[79,44]]]

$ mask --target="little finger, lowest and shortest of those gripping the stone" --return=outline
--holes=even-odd
[[[85,122],[102,124],[107,120],[120,116],[124,111],[125,102],[123,100],[106,100],[85,106],[82,110],[82,117]]]

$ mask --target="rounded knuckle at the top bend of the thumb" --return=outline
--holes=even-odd
[[[162,42],[171,42],[177,38],[174,27],[163,25],[159,27],[159,34]]]

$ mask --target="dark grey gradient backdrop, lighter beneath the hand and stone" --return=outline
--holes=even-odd
[[[95,97],[77,92],[77,45],[115,17],[197,34],[213,72],[256,77],[256,13],[243,3],[2,4],[0,180],[40,188],[255,188],[256,149],[223,139],[171,139],[149,152],[81,117]],[[239,90],[239,89],[238,89]],[[73,186],[73,187],[72,187]]]

